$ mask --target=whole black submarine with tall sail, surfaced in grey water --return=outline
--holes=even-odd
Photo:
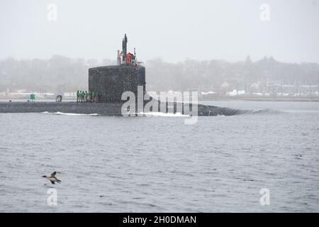
[[[147,97],[145,89],[145,67],[138,62],[136,52],[127,51],[128,37],[125,34],[122,40],[122,51],[118,50],[117,65],[94,67],[89,69],[89,91],[99,92],[97,102],[62,101],[57,96],[52,101],[12,101],[0,102],[0,113],[72,113],[72,114],[99,114],[99,115],[138,115],[145,113],[145,106],[156,104],[148,109],[150,112],[164,114],[187,114],[190,116],[232,116],[245,114],[250,111],[230,109],[226,107],[207,106],[191,102],[160,101],[154,97]],[[139,97],[135,101],[123,99],[123,94]],[[127,97],[125,97],[127,98]],[[183,99],[184,100],[184,99]],[[127,108],[123,111],[123,106]],[[141,107],[141,108],[139,108]],[[164,107],[164,108],[163,108]],[[196,111],[195,111],[196,110]]]

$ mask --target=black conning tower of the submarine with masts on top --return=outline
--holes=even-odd
[[[118,50],[118,65],[89,69],[89,91],[99,92],[100,102],[123,102],[123,92],[133,92],[138,97],[138,86],[145,94],[145,67],[134,54],[127,52],[128,38],[122,41],[122,52]]]

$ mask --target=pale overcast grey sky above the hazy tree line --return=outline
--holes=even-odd
[[[57,21],[47,19],[48,4]],[[115,59],[127,33],[142,61],[319,62],[318,0],[0,0],[0,31],[0,58]]]

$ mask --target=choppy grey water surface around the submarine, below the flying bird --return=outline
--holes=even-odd
[[[319,103],[206,104],[267,111],[194,125],[0,114],[0,211],[319,211]],[[62,184],[41,177],[53,171]],[[57,206],[47,205],[50,188]]]

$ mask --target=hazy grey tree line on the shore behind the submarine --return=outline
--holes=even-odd
[[[116,60],[74,59],[53,55],[48,60],[0,60],[0,92],[21,89],[37,92],[76,92],[88,87],[88,69],[116,65]],[[317,63],[286,63],[274,57],[252,61],[248,56],[239,62],[225,60],[169,63],[161,58],[145,62],[147,90],[210,90],[225,82],[229,89],[245,89],[254,83],[319,84]]]

